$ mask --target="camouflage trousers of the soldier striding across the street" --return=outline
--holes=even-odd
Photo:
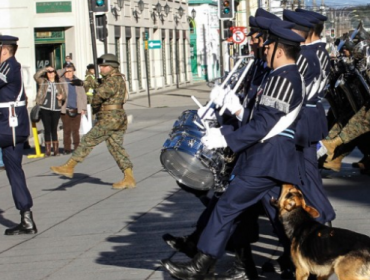
[[[104,123],[98,121],[91,130],[82,137],[80,145],[72,154],[72,159],[77,162],[82,162],[95,146],[105,141],[110,154],[122,173],[128,168],[132,168],[133,164],[129,159],[129,155],[123,148],[123,135],[127,128],[127,118],[125,118],[125,120],[125,124],[120,130],[109,130]]]

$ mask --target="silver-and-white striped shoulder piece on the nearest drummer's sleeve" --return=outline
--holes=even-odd
[[[293,94],[294,89],[291,82],[286,78],[275,76],[266,84],[259,104],[289,113]]]

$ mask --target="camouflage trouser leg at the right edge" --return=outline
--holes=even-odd
[[[349,143],[369,131],[370,110],[363,106],[343,128],[335,124],[329,131],[329,138],[339,136],[343,143]]]

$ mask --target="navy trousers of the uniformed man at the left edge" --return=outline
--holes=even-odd
[[[17,137],[14,147],[12,135],[0,134],[0,148],[3,151],[6,175],[12,188],[15,207],[20,211],[29,211],[33,206],[22,168],[23,145],[27,138],[26,136]]]

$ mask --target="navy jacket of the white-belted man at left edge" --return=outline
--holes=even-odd
[[[0,64],[0,103],[16,101],[22,88],[21,65],[10,57]],[[21,93],[20,101],[27,100],[24,89]],[[15,128],[16,135],[28,136],[30,134],[30,121],[27,106],[16,107],[15,112],[18,116],[18,126]],[[0,108],[0,133],[12,135],[9,127],[9,108]]]

